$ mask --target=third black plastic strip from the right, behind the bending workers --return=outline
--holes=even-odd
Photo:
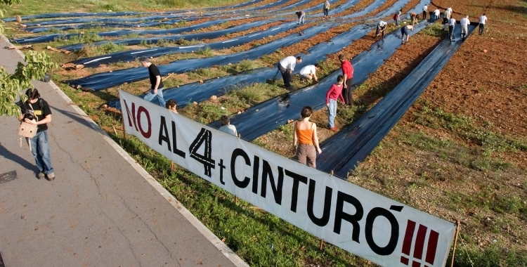
[[[415,9],[421,8],[422,5],[428,3],[429,0],[422,0]],[[401,1],[401,3],[398,2],[394,4],[394,6],[397,7],[401,4],[405,4],[405,1]],[[329,42],[323,42],[313,46],[312,48],[309,48],[307,51],[308,55],[302,57],[302,63],[299,64],[299,66],[314,64],[318,60],[323,60],[327,54],[337,53],[345,46],[349,46],[351,41],[362,38],[367,32],[372,30],[372,27],[373,25],[359,25],[353,27],[348,32],[344,32],[337,35],[336,37],[333,37]],[[299,67],[297,67],[297,69],[299,70]],[[167,100],[171,98],[176,99],[178,101],[178,106],[183,108],[188,104],[189,99],[200,102],[202,100],[208,99],[212,95],[221,96],[226,91],[240,88],[240,84],[266,82],[266,79],[273,76],[280,76],[274,67],[251,70],[235,76],[209,79],[204,81],[203,84],[196,82],[193,84],[180,86],[178,89],[174,88],[174,90],[165,89],[164,98]],[[120,109],[120,103],[117,100],[109,102],[108,105],[113,108]]]

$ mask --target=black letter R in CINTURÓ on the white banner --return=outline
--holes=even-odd
[[[344,212],[344,202],[352,204],[353,207],[355,207],[355,214],[351,215]],[[351,240],[360,243],[358,240],[358,235],[360,234],[360,226],[358,225],[358,221],[363,219],[363,215],[364,209],[363,205],[360,204],[360,201],[351,195],[339,191],[339,193],[337,193],[337,207],[335,207],[335,224],[333,227],[333,232],[340,234],[342,220],[348,221],[351,223],[351,225],[353,225]]]

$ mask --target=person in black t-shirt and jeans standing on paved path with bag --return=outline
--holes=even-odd
[[[27,100],[20,103],[21,115],[18,116],[20,122],[37,125],[37,133],[33,138],[26,138],[30,144],[34,161],[39,168],[39,179],[46,178],[48,181],[55,179],[53,167],[51,167],[51,156],[49,154],[48,122],[51,122],[51,109],[46,100],[40,98],[37,89],[27,89],[25,91]]]

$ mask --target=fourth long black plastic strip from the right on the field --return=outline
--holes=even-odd
[[[315,34],[325,32],[329,29],[331,25],[332,24],[330,23],[325,23],[313,26],[311,28],[308,28],[307,30],[304,30],[304,32],[301,32],[300,34],[294,33],[282,39],[271,41],[268,44],[256,46],[254,48],[249,49],[248,51],[224,56],[215,56],[212,58],[194,58],[189,60],[178,60],[174,63],[170,63],[167,65],[160,65],[159,69],[161,74],[164,76],[170,72],[181,73],[190,70],[196,70],[202,67],[209,67],[212,65],[226,65],[228,63],[238,63],[245,59],[254,60],[262,55],[272,53],[273,51],[276,51],[282,46],[290,46],[292,44],[297,43],[298,41],[313,37]],[[296,23],[290,23],[289,27],[295,26]],[[114,72],[103,72],[93,74],[81,79],[65,81],[65,83],[70,84],[74,87],[82,86],[83,89],[99,91],[110,88],[112,86],[117,86],[119,84],[124,84],[125,82],[136,82],[146,78],[148,78],[148,70],[144,67],[141,67],[126,70],[116,70]]]

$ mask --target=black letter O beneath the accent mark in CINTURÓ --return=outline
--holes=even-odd
[[[373,240],[373,223],[378,216],[384,216],[384,218],[388,219],[391,224],[390,240],[386,247],[377,246],[377,244],[375,244],[375,240]],[[372,249],[373,252],[381,256],[386,256],[392,254],[396,249],[397,242],[399,241],[399,223],[396,217],[393,216],[393,214],[391,214],[391,212],[387,209],[376,207],[367,214],[365,232],[367,245],[370,246],[370,249]]]

